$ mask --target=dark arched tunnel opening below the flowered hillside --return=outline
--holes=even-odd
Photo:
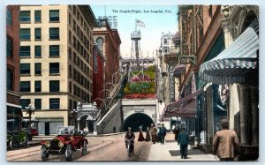
[[[125,119],[124,131],[128,131],[128,127],[131,127],[132,131],[139,131],[140,125],[142,125],[142,131],[146,131],[147,127],[150,129],[150,125],[153,123],[150,116],[143,113],[135,113]]]

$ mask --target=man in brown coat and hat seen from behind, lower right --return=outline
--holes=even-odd
[[[220,161],[234,161],[239,154],[239,139],[236,131],[229,130],[227,119],[221,120],[223,130],[217,131],[213,139],[213,152]]]

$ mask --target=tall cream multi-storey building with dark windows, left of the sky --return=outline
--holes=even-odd
[[[40,134],[55,134],[92,100],[95,16],[87,5],[36,5],[21,6],[19,19],[20,104],[34,104]]]

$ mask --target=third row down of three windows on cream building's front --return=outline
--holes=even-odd
[[[20,46],[19,56],[20,57],[30,56],[30,46]],[[34,46],[34,56],[35,57],[41,57],[42,56],[42,46],[41,45],[35,45]],[[60,46],[59,45],[49,45],[49,56],[50,57],[60,56]]]

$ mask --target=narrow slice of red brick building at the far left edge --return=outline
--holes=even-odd
[[[6,109],[7,129],[21,129],[19,103],[19,5],[6,7]]]

